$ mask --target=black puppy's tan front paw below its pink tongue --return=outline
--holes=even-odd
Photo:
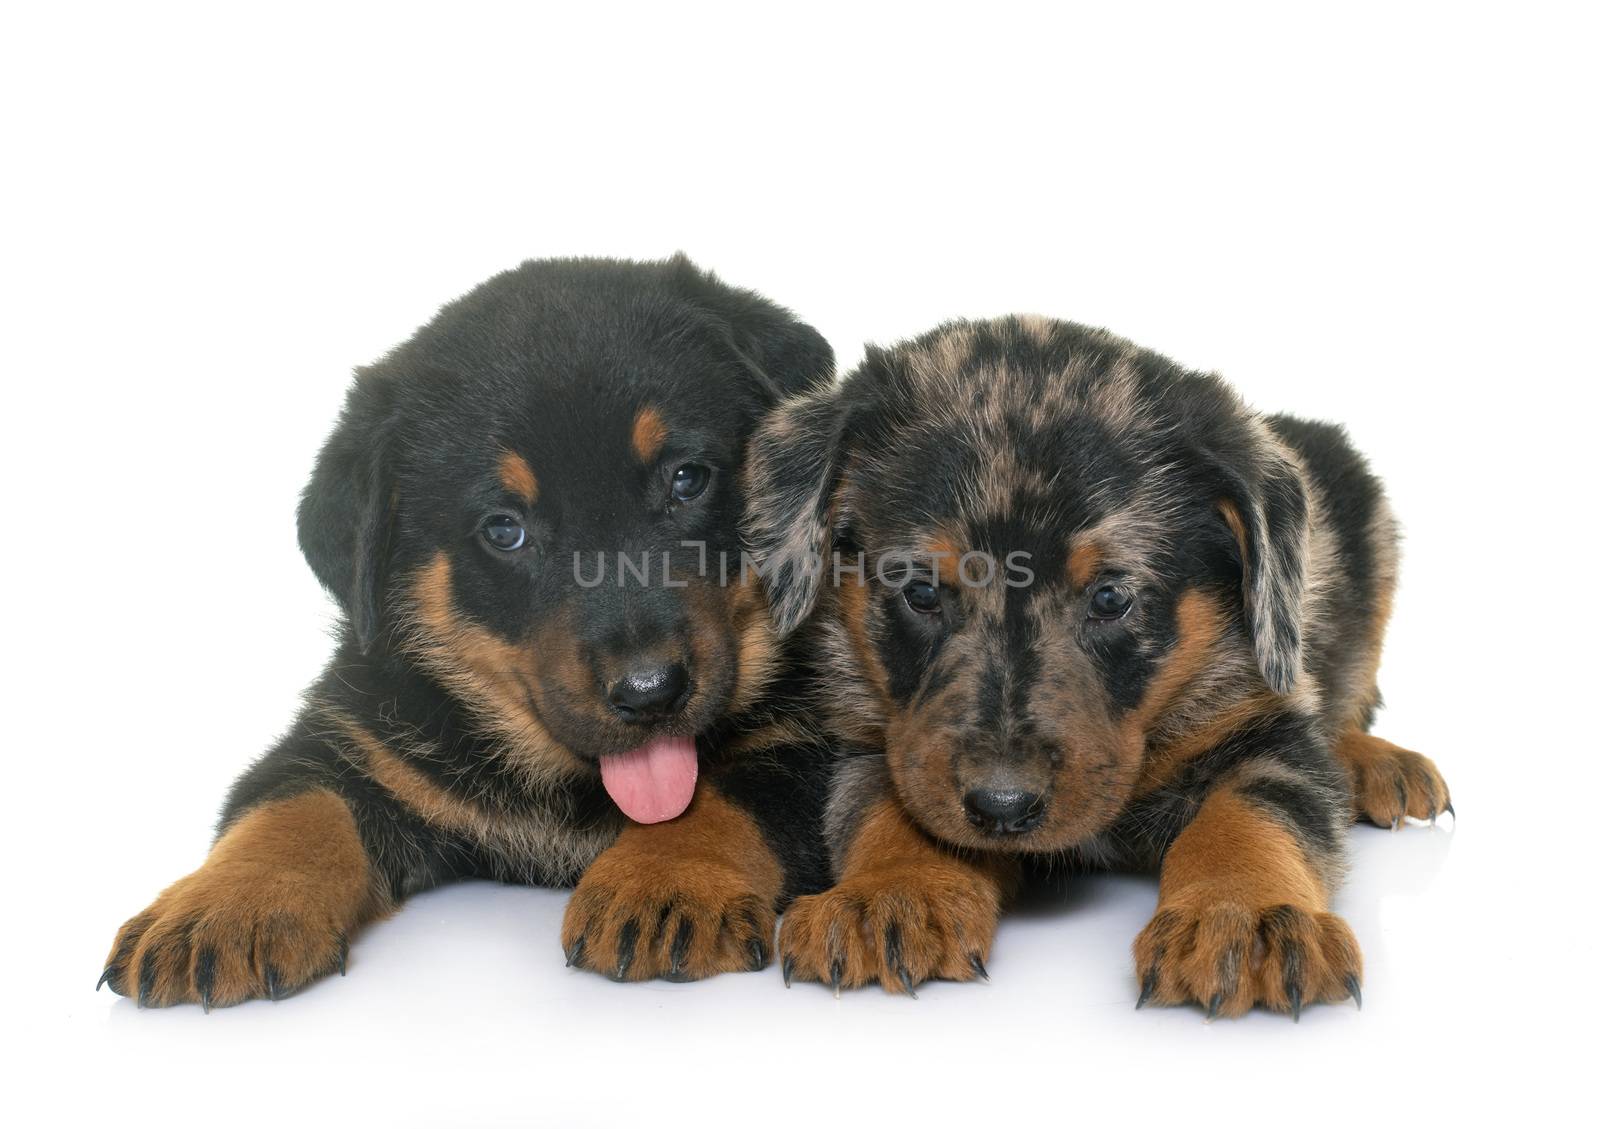
[[[562,950],[613,980],[699,980],[771,959],[771,897],[734,867],[611,848],[566,904]]]

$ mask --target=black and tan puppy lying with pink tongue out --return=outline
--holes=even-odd
[[[104,982],[278,998],[462,876],[578,883],[568,963],[618,979],[762,967],[824,880],[826,782],[760,585],[717,561],[757,422],[830,376],[682,257],[528,262],[360,371],[299,512],[338,652]]]

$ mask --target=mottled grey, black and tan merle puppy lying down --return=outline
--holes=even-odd
[[[1358,995],[1328,912],[1354,809],[1450,804],[1371,737],[1395,526],[1336,427],[1043,318],[952,323],[802,397],[750,456],[779,628],[818,608],[837,886],[786,975],[984,975],[1032,856],[1160,865],[1141,1003]],[[818,561],[822,568],[818,569]]]

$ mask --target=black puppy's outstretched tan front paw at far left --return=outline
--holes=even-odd
[[[282,999],[344,972],[349,924],[293,875],[202,868],[123,924],[101,983],[141,1007]]]

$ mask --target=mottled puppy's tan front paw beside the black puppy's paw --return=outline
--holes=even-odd
[[[837,995],[877,980],[915,996],[923,980],[987,980],[998,923],[1000,888],[981,875],[939,864],[867,872],[784,913],[784,983],[822,980]]]

